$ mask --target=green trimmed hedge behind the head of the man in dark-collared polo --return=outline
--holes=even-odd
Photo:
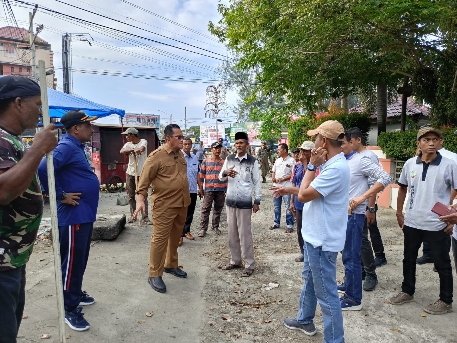
[[[457,136],[454,134],[456,129],[441,129],[444,139],[443,146],[452,152],[457,152]],[[416,139],[417,130],[383,132],[377,138],[377,145],[383,150],[387,158],[406,161],[415,155]]]

